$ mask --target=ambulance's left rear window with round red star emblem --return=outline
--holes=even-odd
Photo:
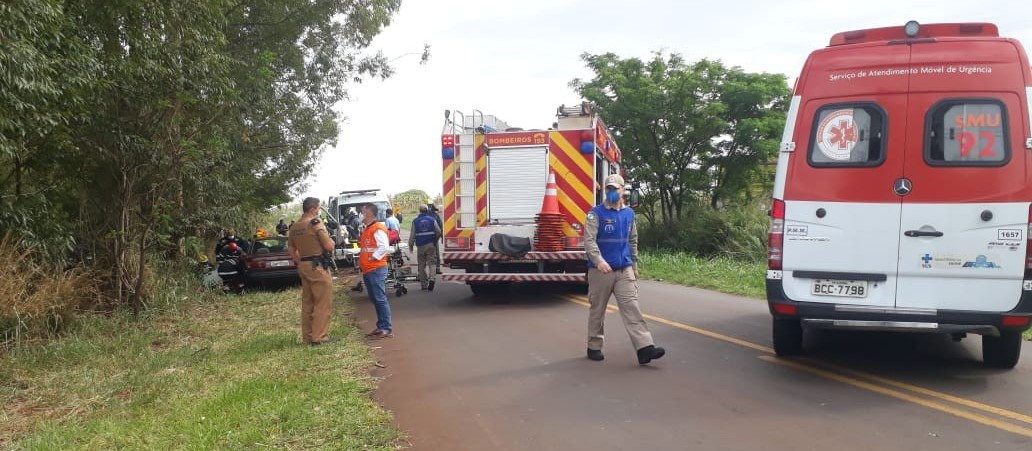
[[[877,166],[885,158],[885,114],[877,105],[823,106],[813,120],[811,166]]]

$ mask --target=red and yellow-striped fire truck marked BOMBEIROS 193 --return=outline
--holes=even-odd
[[[445,281],[465,282],[474,294],[498,292],[513,282],[586,286],[584,218],[602,201],[606,176],[622,173],[620,150],[590,103],[559,106],[547,130],[513,128],[493,116],[445,111]],[[525,255],[492,252],[492,235],[534,240],[546,185],[554,175],[561,243],[536,243]],[[637,196],[635,196],[637,197]]]

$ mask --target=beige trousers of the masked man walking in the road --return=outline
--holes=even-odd
[[[635,350],[651,346],[652,333],[648,331],[638,307],[638,281],[635,280],[634,269],[627,266],[608,275],[596,268],[587,270],[587,297],[591,303],[587,317],[587,349],[602,350],[610,296],[616,296],[616,307]]]

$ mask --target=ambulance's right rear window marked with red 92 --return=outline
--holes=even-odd
[[[1010,160],[1006,108],[999,100],[939,102],[928,114],[925,161],[933,166],[1000,166]]]

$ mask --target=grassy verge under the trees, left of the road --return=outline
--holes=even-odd
[[[337,288],[331,334],[299,344],[299,291],[93,316],[0,355],[0,448],[396,449]]]

